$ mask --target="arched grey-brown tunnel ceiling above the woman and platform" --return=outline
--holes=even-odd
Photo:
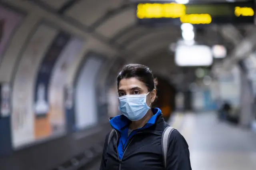
[[[17,3],[20,4],[20,1]],[[180,28],[176,26],[148,28],[138,25],[134,5],[129,0],[28,0],[26,3],[39,7],[62,22],[67,22],[90,35],[87,39],[90,43],[86,45],[86,49],[101,51],[101,47],[97,45],[101,43],[115,51],[115,56],[121,56],[128,62],[158,65],[158,69],[155,70],[170,79],[176,77],[177,82],[181,79],[187,81],[193,79],[193,76],[191,80],[189,77],[182,78],[184,74],[180,73],[184,73],[184,69],[174,64],[174,54],[168,50],[169,45],[177,42],[181,37]],[[234,39],[240,42],[241,38],[253,30],[255,30],[253,26],[211,25],[196,29],[196,41],[209,46],[224,44],[230,52],[237,45]],[[193,69],[190,69],[190,72],[193,73]]]

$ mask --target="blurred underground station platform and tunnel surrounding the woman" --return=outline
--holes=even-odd
[[[0,169],[98,170],[141,63],[193,170],[256,170],[254,0],[1,0]]]

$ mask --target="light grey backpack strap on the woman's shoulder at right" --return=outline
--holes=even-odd
[[[167,159],[167,151],[168,151],[168,140],[169,136],[175,128],[173,127],[166,127],[162,134],[162,152],[164,158],[164,168],[166,168],[166,159]]]

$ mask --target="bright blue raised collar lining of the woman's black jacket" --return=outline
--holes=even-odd
[[[154,125],[156,123],[156,119],[159,115],[162,115],[162,112],[159,108],[152,108],[153,116],[148,120],[148,126]],[[130,120],[124,115],[118,115],[109,120],[110,125],[118,130],[122,131],[125,127],[130,124]]]

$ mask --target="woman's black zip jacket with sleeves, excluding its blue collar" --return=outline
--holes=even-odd
[[[153,126],[130,139],[122,160],[119,160],[116,148],[120,134],[114,133],[108,145],[108,133],[100,170],[163,170],[161,142],[162,133],[167,126],[162,115],[158,116]],[[167,170],[192,170],[188,144],[178,130],[170,135],[166,165]]]

